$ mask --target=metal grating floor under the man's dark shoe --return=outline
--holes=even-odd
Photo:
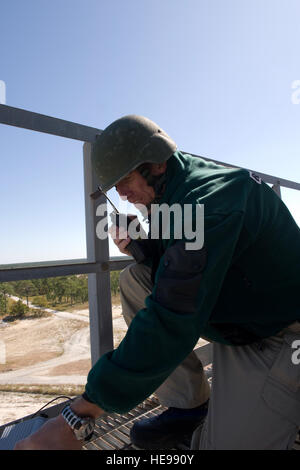
[[[96,421],[94,437],[84,447],[84,450],[137,450],[130,442],[130,429],[141,419],[158,415],[166,407],[161,406],[155,398],[149,398],[129,413],[118,415],[108,414]],[[183,440],[173,449],[189,450],[189,442]],[[300,432],[298,433],[293,450],[300,450]]]

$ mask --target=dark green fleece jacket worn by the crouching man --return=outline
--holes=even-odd
[[[247,170],[177,151],[160,203],[204,205],[204,246],[157,241],[154,288],[119,347],[91,369],[85,397],[126,412],[153,393],[199,337],[243,345],[300,320],[300,229]]]

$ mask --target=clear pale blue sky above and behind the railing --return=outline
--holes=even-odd
[[[300,182],[298,0],[4,0],[0,18],[6,104],[100,129],[142,114]],[[0,158],[0,264],[85,257],[82,143],[0,125]]]

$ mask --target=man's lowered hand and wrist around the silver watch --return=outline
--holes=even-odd
[[[78,416],[97,419],[104,411],[79,397],[70,403]],[[17,442],[14,450],[80,450],[84,441],[78,441],[62,415],[49,419],[38,431]]]

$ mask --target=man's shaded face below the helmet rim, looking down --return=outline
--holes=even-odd
[[[134,205],[148,206],[155,199],[155,192],[147,180],[137,171],[131,171],[116,184],[116,190],[122,199],[127,199]]]

